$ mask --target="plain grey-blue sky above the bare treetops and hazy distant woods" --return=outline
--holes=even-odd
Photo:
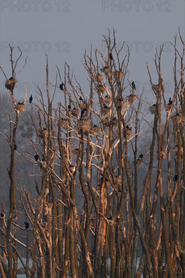
[[[149,81],[146,62],[149,62],[151,73],[156,78],[153,58],[155,48],[165,42],[162,56],[162,73],[167,82],[170,96],[173,90],[174,35],[180,26],[184,38],[184,1],[1,1],[1,66],[8,77],[11,77],[9,63],[10,50],[8,42],[19,45],[22,57],[27,59],[25,69],[17,76],[20,84],[29,82],[30,92],[35,93],[35,82],[45,82],[45,53],[48,54],[50,82],[55,83],[56,65],[64,77],[64,61],[75,75],[84,90],[88,86],[86,74],[81,64],[83,53],[99,49],[106,55],[102,34],[108,34],[108,28],[116,29],[117,44],[123,41],[130,45],[130,79],[142,85],[137,86],[140,95],[142,86]],[[180,52],[181,44],[177,42]],[[49,50],[49,51],[48,51]],[[122,57],[126,48],[122,51]],[[15,48],[15,55],[18,55]],[[19,63],[18,69],[24,64]],[[157,78],[154,81],[158,81]],[[1,72],[1,82],[5,78]],[[170,84],[172,87],[170,88]],[[2,88],[1,91],[6,91]],[[24,98],[25,86],[16,92],[18,98]],[[147,89],[147,87],[146,87]],[[166,89],[167,90],[167,89]],[[28,97],[29,97],[28,94]],[[172,94],[172,92],[171,92]],[[146,97],[152,100],[151,93]],[[56,96],[61,99],[61,93]]]

